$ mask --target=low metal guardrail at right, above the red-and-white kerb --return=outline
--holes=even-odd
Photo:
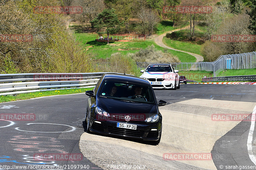
[[[202,78],[202,82],[214,82],[214,81],[256,81],[256,75]]]

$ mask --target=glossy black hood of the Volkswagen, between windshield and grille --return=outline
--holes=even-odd
[[[98,97],[97,105],[109,114],[158,114],[157,104],[139,103]]]

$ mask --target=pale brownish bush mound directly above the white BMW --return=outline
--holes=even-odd
[[[141,49],[135,54],[129,54],[137,62],[148,63],[178,63],[179,58],[170,54],[164,53],[161,50],[157,50],[152,44],[145,49]]]

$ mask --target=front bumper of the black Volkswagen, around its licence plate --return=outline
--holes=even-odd
[[[136,124],[137,129],[134,130],[134,129],[117,128],[116,127],[117,122]],[[95,119],[92,122],[90,131],[104,134],[104,135],[113,135],[113,136],[133,138],[133,139],[142,139],[144,141],[156,141],[159,139],[159,135],[162,130],[161,128],[162,128],[161,120],[159,120],[156,123],[139,124],[138,122],[135,122],[135,121],[132,121],[132,122],[110,121],[110,120],[98,121]],[[155,129],[155,130],[151,130],[151,129]]]

